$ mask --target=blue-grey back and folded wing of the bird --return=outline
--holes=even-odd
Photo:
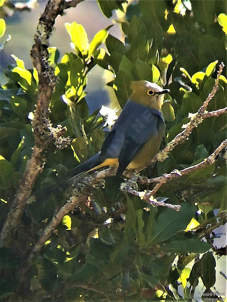
[[[118,158],[120,175],[144,143],[158,134],[164,123],[160,111],[128,101],[103,143],[101,158]]]

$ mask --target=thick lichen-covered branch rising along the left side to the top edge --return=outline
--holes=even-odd
[[[69,140],[59,137],[64,130],[54,130],[48,119],[48,108],[56,83],[54,69],[48,62],[48,40],[52,33],[56,17],[62,15],[64,9],[75,7],[81,1],[83,0],[72,0],[70,2],[66,2],[65,0],[49,0],[38,23],[35,44],[31,50],[33,65],[37,69],[39,79],[38,100],[33,120],[35,146],[2,228],[0,246],[9,247],[14,241],[16,227],[21,219],[26,200],[31,194],[37,175],[44,167],[47,152],[55,148],[55,146],[60,145],[64,147],[69,143]]]

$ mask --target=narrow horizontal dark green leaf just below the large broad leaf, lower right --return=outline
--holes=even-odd
[[[210,249],[210,245],[199,239],[174,240],[160,247],[165,253],[205,253]]]

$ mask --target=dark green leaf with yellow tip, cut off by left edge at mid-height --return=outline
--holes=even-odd
[[[0,188],[6,190],[13,183],[13,165],[0,155]]]

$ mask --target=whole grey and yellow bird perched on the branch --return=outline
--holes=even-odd
[[[165,128],[161,111],[163,94],[169,89],[148,81],[133,81],[131,90],[132,95],[100,152],[67,173],[65,181],[109,165],[118,167],[117,175],[125,169],[141,169],[158,152]]]

